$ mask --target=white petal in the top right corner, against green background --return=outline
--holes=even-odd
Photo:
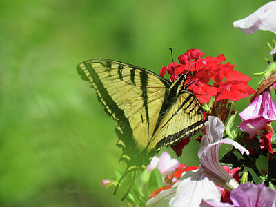
[[[266,3],[248,17],[235,21],[233,25],[248,34],[259,29],[276,34],[276,1]]]

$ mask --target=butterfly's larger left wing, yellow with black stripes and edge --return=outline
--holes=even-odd
[[[117,145],[127,171],[146,168],[152,155],[146,148],[153,135],[161,105],[170,83],[146,69],[93,59],[77,66],[82,79],[90,81],[108,115],[117,121]]]

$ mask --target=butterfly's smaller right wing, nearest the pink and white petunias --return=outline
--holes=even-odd
[[[184,90],[161,119],[158,133],[152,138],[148,149],[173,146],[182,139],[195,135],[203,125],[204,111],[197,97],[193,92]]]

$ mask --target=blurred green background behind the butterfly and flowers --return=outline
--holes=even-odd
[[[108,58],[158,72],[171,63],[168,48],[175,59],[199,48],[251,75],[266,68],[275,35],[244,34],[233,21],[267,2],[1,1],[0,206],[125,205],[122,190],[101,187],[124,168],[115,121],[75,66]],[[197,165],[191,142],[179,160]]]

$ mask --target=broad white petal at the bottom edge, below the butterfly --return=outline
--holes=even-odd
[[[169,207],[197,207],[202,199],[220,201],[220,197],[213,181],[205,177],[199,168],[197,171],[184,173],[177,181],[176,195],[170,200]]]

